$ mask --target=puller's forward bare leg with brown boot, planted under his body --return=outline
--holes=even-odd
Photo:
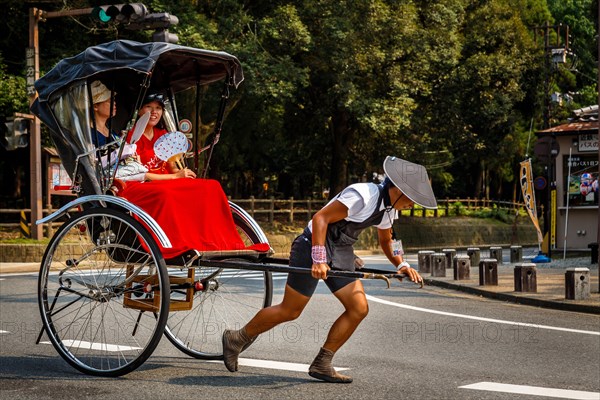
[[[369,312],[369,304],[360,281],[355,281],[334,293],[345,311],[333,323],[325,344],[308,369],[313,378],[333,383],[350,383],[352,378],[339,374],[333,368],[335,352],[352,336],[361,321]]]

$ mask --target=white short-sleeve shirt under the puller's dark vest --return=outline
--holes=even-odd
[[[377,207],[379,207],[377,211],[385,209],[383,202],[380,204],[377,203],[377,200],[379,200],[379,188],[375,183],[355,183],[350,185],[328,204],[336,200],[348,207],[348,216],[344,219],[350,222],[363,222],[375,213]],[[381,223],[376,225],[376,228],[389,229],[397,218],[398,212],[391,208],[384,213]],[[312,232],[312,221],[308,223],[308,227]]]

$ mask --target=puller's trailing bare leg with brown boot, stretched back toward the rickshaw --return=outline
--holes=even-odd
[[[261,309],[240,330],[223,332],[223,361],[230,372],[238,370],[238,357],[254,339],[263,332],[274,328],[282,322],[292,321],[300,316],[310,297],[300,294],[286,285],[283,300],[280,304]]]

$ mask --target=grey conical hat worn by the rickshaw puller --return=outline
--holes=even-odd
[[[406,197],[424,208],[437,208],[437,201],[424,166],[387,156],[383,170]]]

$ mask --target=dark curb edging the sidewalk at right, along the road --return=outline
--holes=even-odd
[[[444,289],[457,290],[460,292],[482,296],[493,300],[508,301],[511,303],[523,304],[534,307],[552,308],[561,311],[575,311],[588,314],[600,314],[600,306],[590,306],[586,304],[574,304],[562,301],[535,299],[531,297],[517,296],[506,292],[490,292],[472,286],[457,285],[454,283],[439,281],[431,278],[424,278],[424,280],[427,285],[437,286]]]

